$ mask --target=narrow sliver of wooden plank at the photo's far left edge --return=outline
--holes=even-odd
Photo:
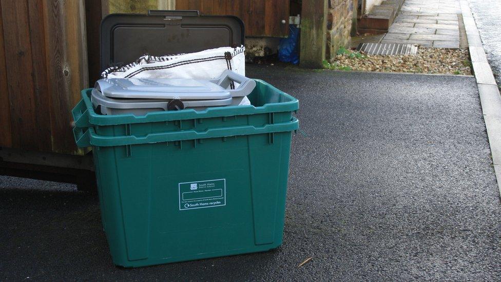
[[[7,88],[7,65],[5,64],[4,25],[0,3],[0,146],[12,146],[10,127],[9,92]]]

